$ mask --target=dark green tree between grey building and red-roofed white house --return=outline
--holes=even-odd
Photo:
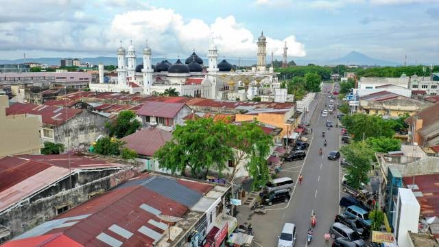
[[[139,130],[142,124],[131,110],[122,110],[114,123],[107,122],[105,126],[110,130],[110,137],[122,138]]]

